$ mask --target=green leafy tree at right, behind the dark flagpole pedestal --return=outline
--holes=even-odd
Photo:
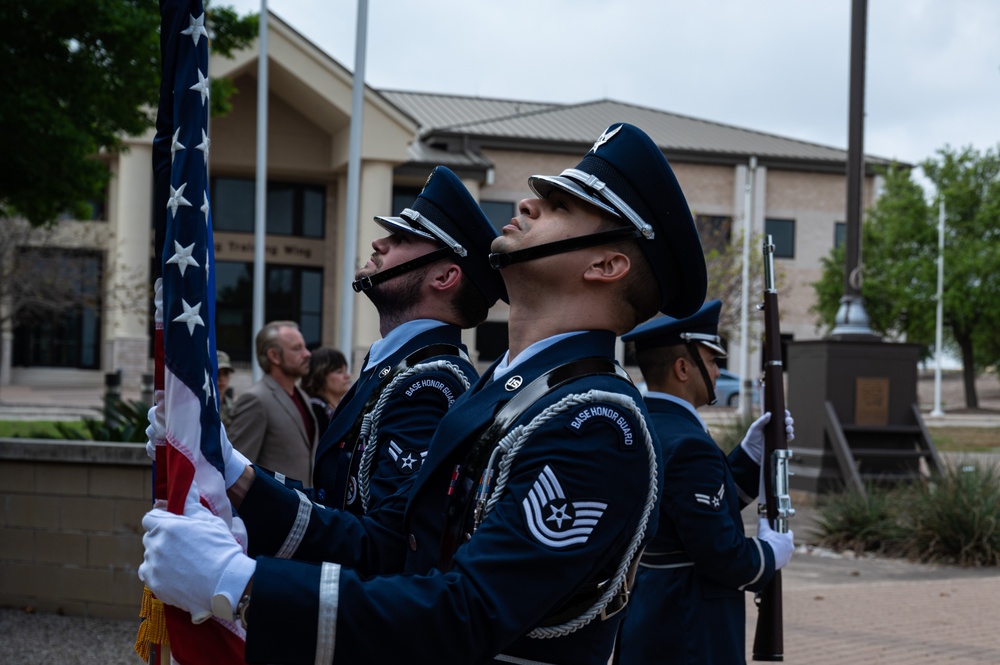
[[[1000,155],[937,151],[921,164],[937,190],[928,203],[908,169],[889,168],[862,228],[861,292],[872,329],[930,345],[935,338],[938,201],[944,197],[943,324],[962,358],[965,401],[978,408],[975,378],[1000,354]],[[814,286],[820,325],[833,324],[843,295],[844,253],[823,259]]]

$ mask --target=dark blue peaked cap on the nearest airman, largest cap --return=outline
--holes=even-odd
[[[576,168],[528,184],[542,197],[558,187],[639,228],[664,314],[689,316],[705,301],[705,255],[691,211],[663,151],[638,127],[611,125]]]

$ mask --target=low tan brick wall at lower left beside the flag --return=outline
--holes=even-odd
[[[0,439],[0,606],[138,624],[150,468],[142,444]]]

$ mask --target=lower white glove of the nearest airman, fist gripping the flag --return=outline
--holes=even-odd
[[[201,623],[217,616],[233,620],[243,590],[257,568],[226,523],[208,509],[194,516],[153,508],[142,518],[146,534],[139,579],[156,597]]]

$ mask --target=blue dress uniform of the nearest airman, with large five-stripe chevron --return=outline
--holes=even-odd
[[[622,613],[602,620],[601,599],[655,531],[662,474],[631,383],[579,376],[524,411],[501,441],[509,455],[490,464],[495,502],[453,560],[438,560],[456,465],[497,411],[563,363],[613,362],[614,344],[613,333],[588,331],[526,351],[498,380],[491,368],[442,419],[398,533],[374,519],[398,504],[351,523],[301,494],[282,501],[284,488],[258,478],[244,505],[274,510],[266,524],[248,524],[250,542],[297,560],[257,558],[248,662],[480,663],[500,654],[495,662],[607,663]],[[407,574],[365,575],[380,548],[400,545]],[[581,590],[582,606],[572,602]],[[596,618],[532,633],[567,603],[590,616],[598,608]]]

